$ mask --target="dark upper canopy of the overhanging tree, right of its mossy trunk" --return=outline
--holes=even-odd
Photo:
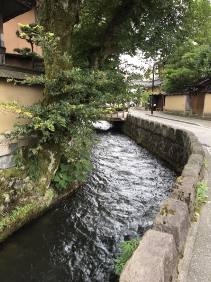
[[[119,54],[134,56],[137,49],[146,57],[165,56],[192,21],[189,7],[190,1],[180,0],[85,0],[73,30],[73,63],[88,66],[87,58],[99,50],[106,50],[107,66],[117,66]]]

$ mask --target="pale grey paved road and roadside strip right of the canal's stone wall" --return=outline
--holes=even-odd
[[[192,131],[204,147],[209,164],[205,181],[211,187],[211,121],[170,116],[157,112],[151,115],[146,111],[131,109],[130,114]],[[209,195],[211,198],[211,189]],[[180,261],[178,269],[177,282],[211,282],[211,204],[202,207],[201,216],[196,223],[192,224],[184,257]]]

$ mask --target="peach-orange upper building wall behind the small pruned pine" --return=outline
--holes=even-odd
[[[17,16],[16,18],[11,19],[9,22],[4,23],[4,46],[7,48],[7,53],[14,53],[14,48],[31,48],[31,45],[27,43],[26,40],[18,38],[15,32],[17,29],[20,29],[20,26],[18,25],[19,23],[27,25],[32,22],[35,22],[35,8],[20,16]],[[34,52],[41,54],[41,47],[34,46]]]

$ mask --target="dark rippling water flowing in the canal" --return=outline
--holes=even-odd
[[[174,170],[120,132],[98,133],[87,183],[0,245],[1,282],[114,282],[119,242],[143,233]]]

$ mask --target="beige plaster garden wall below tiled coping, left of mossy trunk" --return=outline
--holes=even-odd
[[[21,84],[14,85],[12,82],[7,82],[6,79],[0,79],[0,99],[1,101],[19,101],[19,106],[31,105],[34,102],[42,100],[42,85],[26,86]],[[13,129],[13,124],[17,122],[17,114],[11,111],[3,113],[0,108],[0,132]],[[19,119],[23,124],[24,120]]]

